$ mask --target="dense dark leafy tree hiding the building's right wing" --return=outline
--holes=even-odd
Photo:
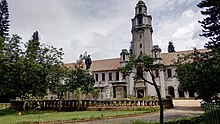
[[[177,63],[177,75],[183,91],[196,92],[205,101],[217,98],[220,93],[220,54],[194,50],[181,55]]]

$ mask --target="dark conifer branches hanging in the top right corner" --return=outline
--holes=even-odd
[[[209,38],[210,41],[205,44],[206,48],[217,48],[220,46],[220,1],[202,0],[198,5],[202,15],[206,18],[199,21],[204,30],[200,36]]]

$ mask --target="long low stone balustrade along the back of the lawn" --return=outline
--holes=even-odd
[[[128,110],[137,107],[159,106],[158,100],[41,100],[26,102],[27,109],[41,110]],[[172,108],[172,100],[163,100],[164,108]],[[11,101],[11,109],[22,110],[24,101]]]

